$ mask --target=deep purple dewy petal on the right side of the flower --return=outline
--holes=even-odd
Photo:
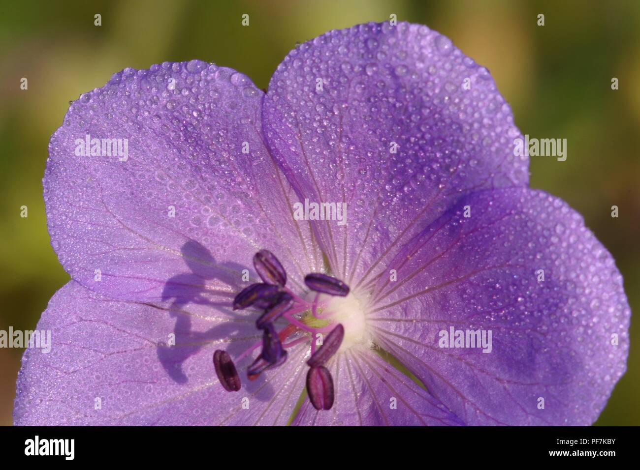
[[[388,269],[367,318],[376,341],[467,424],[590,425],[625,372],[620,272],[545,192],[462,198]]]

